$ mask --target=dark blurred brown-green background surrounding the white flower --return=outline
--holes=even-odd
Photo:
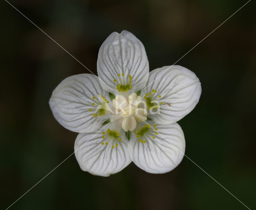
[[[172,65],[244,0],[10,0],[97,74],[98,50],[114,31],[144,44],[150,70]],[[77,133],[48,100],[66,77],[90,73],[6,1],[1,14],[0,208],[6,209],[74,151]],[[178,123],[186,155],[250,209],[256,208],[255,1],[178,61],[202,83],[196,108]],[[133,163],[108,178],[80,170],[72,155],[10,209],[246,209],[184,157],[167,174]]]

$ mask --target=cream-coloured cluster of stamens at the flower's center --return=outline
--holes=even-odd
[[[112,104],[116,109],[116,122],[119,123],[124,131],[133,131],[137,122],[146,121],[148,112],[146,109],[139,107],[142,103],[142,97],[136,93],[129,95],[128,100],[123,95],[116,95]]]

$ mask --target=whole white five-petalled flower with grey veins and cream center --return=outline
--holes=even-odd
[[[74,149],[82,170],[109,176],[131,161],[150,173],[174,169],[185,152],[176,122],[201,94],[196,75],[178,65],[149,72],[144,46],[127,31],[102,44],[97,71],[64,79],[49,102],[57,121],[79,133]]]

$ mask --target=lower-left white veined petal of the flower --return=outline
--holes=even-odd
[[[100,131],[78,134],[74,151],[82,170],[94,175],[109,176],[130,164],[131,159],[127,149],[128,139],[124,131],[120,136],[122,141],[113,142],[111,140],[106,145],[106,139],[102,139],[102,131],[106,132],[107,129],[108,126]],[[101,144],[102,142],[104,145]],[[115,146],[116,143],[118,143],[118,147]],[[114,149],[112,149],[112,145],[114,145]]]

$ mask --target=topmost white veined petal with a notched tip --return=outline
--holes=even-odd
[[[118,93],[114,79],[118,79],[118,74],[122,73],[125,83],[128,82],[128,75],[132,76],[132,92],[141,90],[148,81],[149,72],[143,44],[128,31],[110,34],[100,47],[97,71],[100,79],[113,89],[100,83],[110,93]]]

